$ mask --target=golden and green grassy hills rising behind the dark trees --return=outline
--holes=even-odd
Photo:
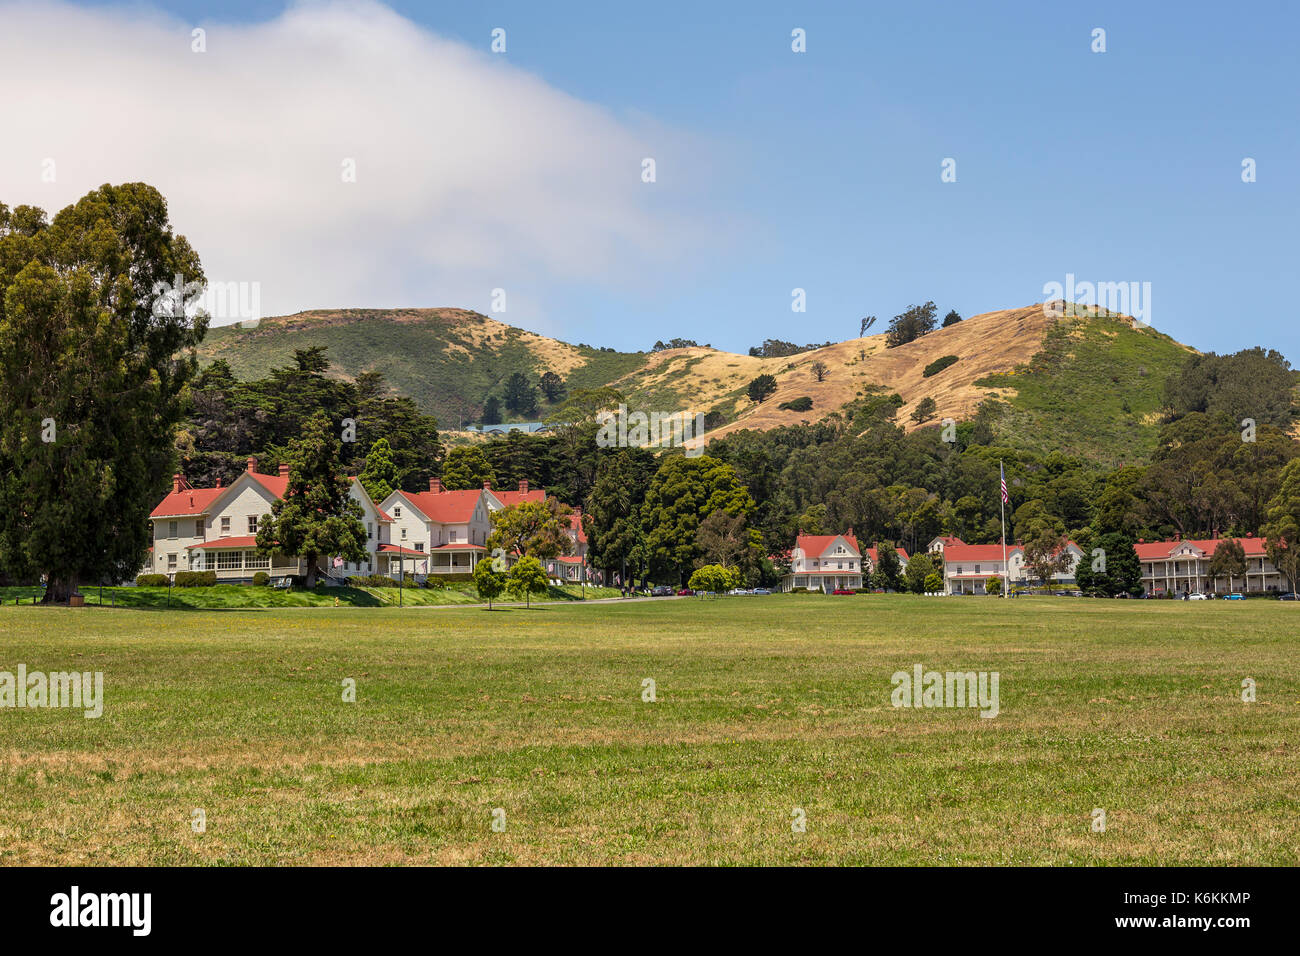
[[[329,349],[335,375],[382,372],[446,429],[476,421],[511,373],[536,380],[554,371],[571,389],[612,385],[637,408],[715,411],[724,424],[708,438],[816,421],[872,388],[902,398],[898,421],[909,429],[920,427],[910,415],[926,398],[935,399],[936,415],[924,424],[968,419],[993,399],[1008,440],[1108,463],[1149,454],[1165,378],[1191,351],[1126,316],[1054,319],[1041,304],[976,315],[897,349],[876,334],[784,358],[706,347],[618,352],[477,312],[419,308],[300,312],[265,319],[255,329],[213,329],[200,358],[224,358],[247,378],[309,346]],[[755,405],[746,386],[763,373],[776,378],[777,390]],[[796,398],[811,399],[811,410],[780,407]]]

